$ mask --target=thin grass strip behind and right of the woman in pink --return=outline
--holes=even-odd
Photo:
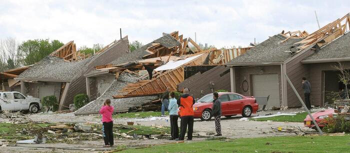
[[[165,111],[165,115],[169,113]],[[140,111],[140,112],[128,112],[128,113],[119,113],[113,115],[113,118],[146,118],[146,117],[154,117],[161,116],[160,111]],[[100,116],[98,116],[100,117]]]

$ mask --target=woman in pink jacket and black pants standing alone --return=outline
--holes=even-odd
[[[102,114],[102,131],[103,131],[103,140],[105,146],[114,145],[113,137],[113,119],[112,113],[114,107],[110,105],[110,99],[106,99],[103,103],[103,106],[99,110],[99,113]]]

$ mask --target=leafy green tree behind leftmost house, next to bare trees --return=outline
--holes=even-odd
[[[23,41],[18,51],[23,57],[24,65],[34,64],[63,45],[59,40],[34,39]]]

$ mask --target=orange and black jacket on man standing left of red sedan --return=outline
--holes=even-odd
[[[179,115],[182,116],[193,116],[193,104],[195,100],[189,94],[183,94],[179,99],[177,99],[177,104],[180,106]]]

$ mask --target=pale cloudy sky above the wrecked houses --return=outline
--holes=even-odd
[[[305,2],[306,1],[306,2]],[[261,42],[282,29],[316,30],[350,11],[347,0],[0,0],[0,39],[108,44],[128,35],[148,43],[162,32],[216,47]]]

